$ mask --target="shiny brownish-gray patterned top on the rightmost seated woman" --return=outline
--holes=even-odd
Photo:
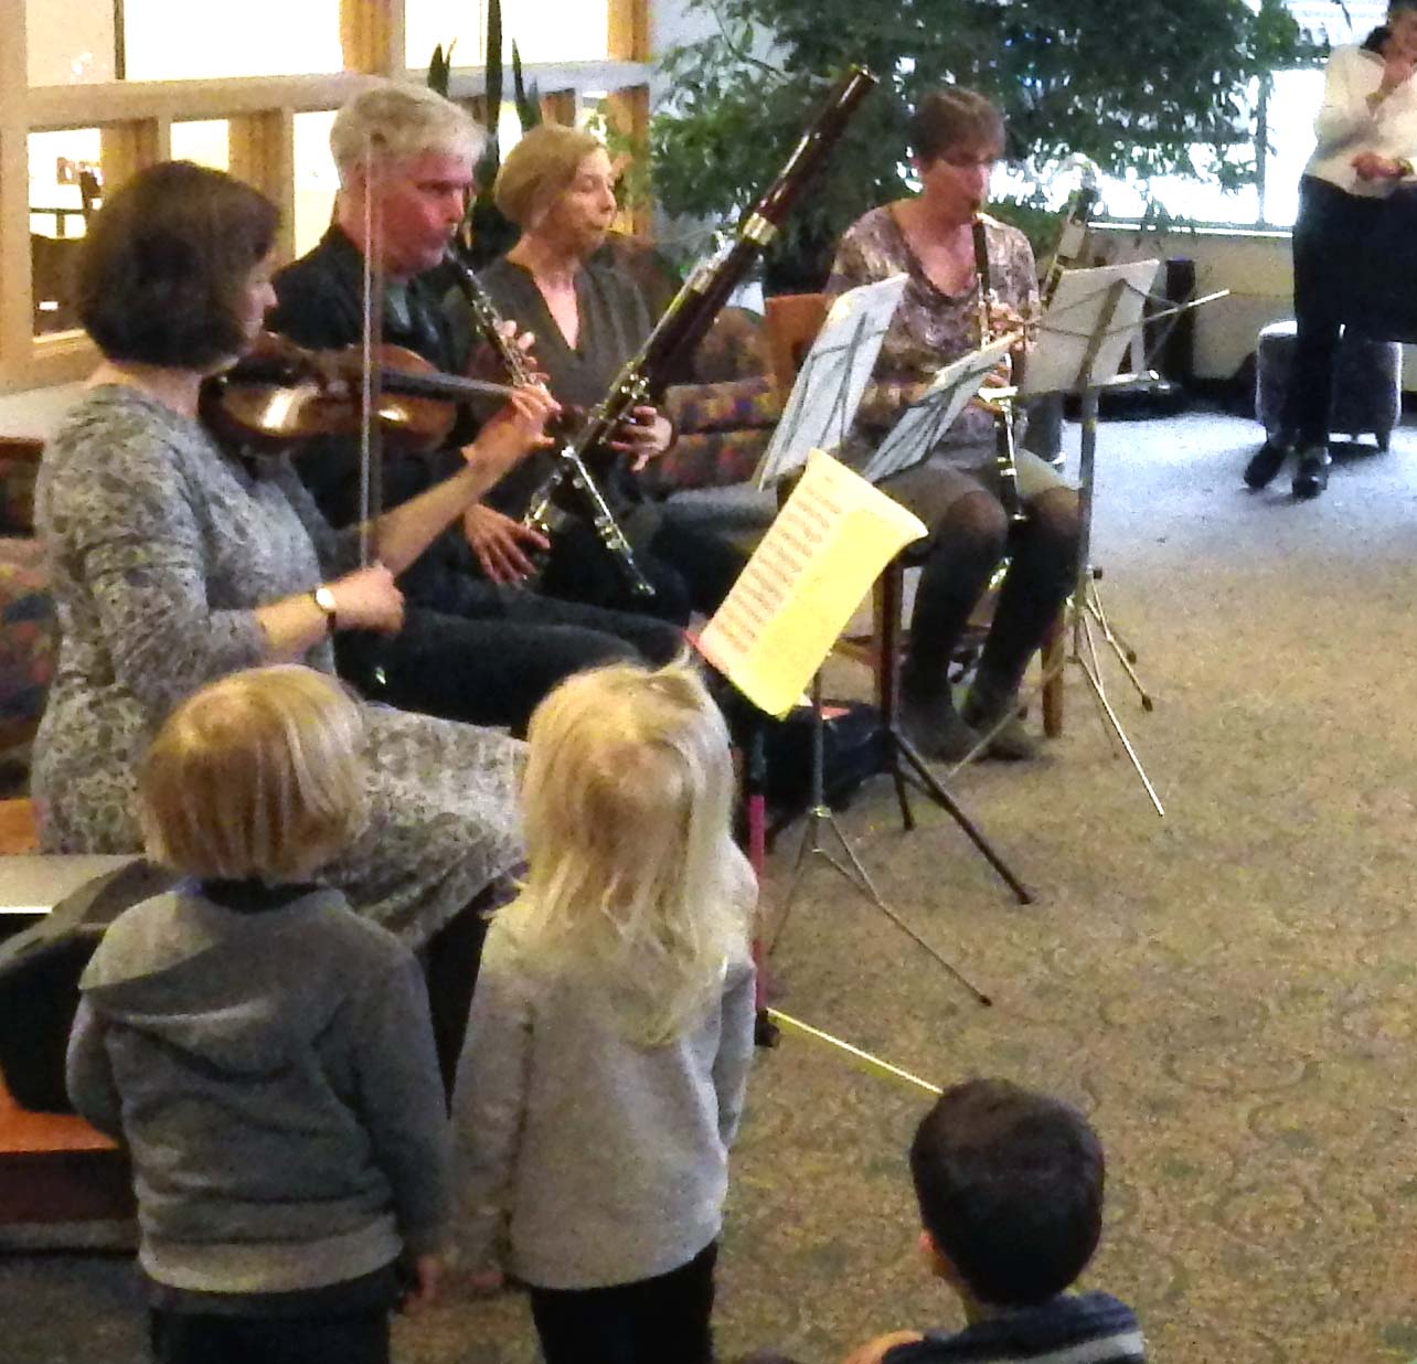
[[[989,244],[989,278],[1000,303],[1007,303],[1024,320],[1039,316],[1039,285],[1029,239],[1015,227],[983,215]],[[873,382],[857,414],[857,428],[869,446],[890,429],[900,408],[952,360],[979,344],[979,289],[948,295],[938,289],[891,212],[890,205],[873,208],[842,238],[832,262],[826,292],[832,296],[871,285],[904,272],[908,279],[900,307],[876,360]],[[995,418],[971,404],[959,414],[945,445],[992,448]]]

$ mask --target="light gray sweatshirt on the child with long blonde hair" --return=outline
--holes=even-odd
[[[584,980],[537,969],[516,908],[502,911],[453,1093],[453,1242],[469,1268],[599,1288],[667,1273],[708,1245],[752,1059],[752,986],[744,950],[696,1025],[638,1047]]]

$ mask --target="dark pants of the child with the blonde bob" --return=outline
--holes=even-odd
[[[333,1317],[149,1313],[157,1364],[388,1364],[388,1312]]]

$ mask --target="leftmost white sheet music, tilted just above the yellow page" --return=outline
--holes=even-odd
[[[891,275],[874,285],[859,285],[832,302],[758,462],[758,487],[801,469],[809,450],[833,450],[846,439],[905,279]]]

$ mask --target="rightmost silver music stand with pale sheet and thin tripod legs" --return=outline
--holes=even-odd
[[[1077,581],[1070,606],[1071,647],[1063,664],[1073,663],[1083,673],[1104,725],[1125,751],[1156,813],[1163,816],[1166,810],[1156,788],[1108,700],[1094,625],[1136,690],[1142,710],[1152,710],[1152,697],[1136,676],[1136,650],[1117,633],[1102,606],[1097,586],[1102,571],[1091,562],[1100,395],[1104,390],[1135,388],[1149,382],[1148,375],[1118,375],[1117,371],[1132,339],[1141,331],[1142,310],[1159,269],[1161,261],[1135,261],[1128,265],[1066,271],[1053,303],[1043,316],[1039,343],[1029,354],[1019,395],[1064,392],[1076,394],[1081,402]]]

